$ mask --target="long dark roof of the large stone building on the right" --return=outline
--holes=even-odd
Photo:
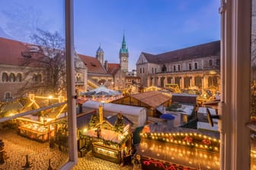
[[[193,58],[203,58],[211,55],[220,55],[220,41],[208,42],[158,55],[152,55],[146,52],[142,52],[142,54],[146,56],[149,63],[166,63]]]

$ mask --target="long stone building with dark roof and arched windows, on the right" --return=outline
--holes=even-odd
[[[143,87],[178,84],[181,89],[220,90],[220,41],[158,55],[142,52],[136,62]]]

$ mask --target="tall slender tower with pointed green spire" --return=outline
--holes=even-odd
[[[126,49],[126,41],[125,41],[125,36],[123,34],[122,48],[120,49],[120,52],[119,52],[120,67],[122,72],[128,71],[128,57],[129,57],[129,52],[128,52],[128,49]]]

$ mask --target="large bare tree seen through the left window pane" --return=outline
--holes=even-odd
[[[58,32],[37,29],[31,36],[34,45],[22,52],[21,66],[24,68],[24,93],[51,93],[58,95],[66,90],[65,40]]]

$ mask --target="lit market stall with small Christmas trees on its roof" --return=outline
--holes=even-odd
[[[99,115],[95,113],[91,116],[90,128],[83,133],[91,140],[93,155],[110,162],[124,162],[132,153],[130,124],[124,123],[121,114],[117,115],[114,125]]]

